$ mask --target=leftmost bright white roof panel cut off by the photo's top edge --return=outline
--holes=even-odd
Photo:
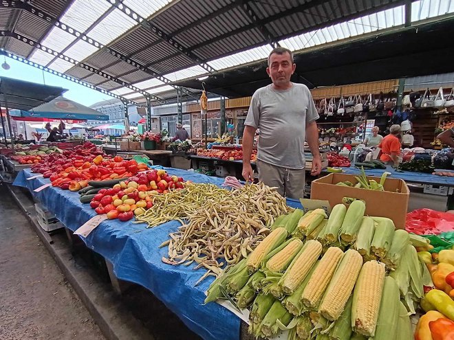
[[[83,33],[110,7],[105,0],[74,0],[60,21]]]

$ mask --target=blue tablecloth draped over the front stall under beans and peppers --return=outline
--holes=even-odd
[[[164,169],[195,183],[221,185],[224,181],[186,170]],[[30,169],[22,170],[17,174],[13,184],[28,188],[36,199],[72,231],[96,215],[89,205],[80,203],[77,192],[52,187],[41,192],[33,192],[50,181],[42,177],[28,181],[27,178],[32,175]],[[301,204],[294,200],[288,200],[288,205],[301,207]],[[144,224],[133,224],[131,221],[122,223],[119,220],[106,220],[83,240],[87,247],[100,253],[113,264],[114,273],[118,278],[148,288],[180,317],[188,328],[203,339],[239,339],[238,317],[218,304],[202,305],[204,292],[213,282],[213,277],[208,277],[195,287],[195,282],[205,273],[204,269],[194,271],[195,265],[173,267],[162,263],[161,258],[167,256],[167,247],[160,249],[158,246],[179,226],[180,223],[177,221],[171,221],[147,229]]]

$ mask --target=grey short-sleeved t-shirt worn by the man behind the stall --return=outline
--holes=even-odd
[[[260,128],[257,158],[274,166],[303,169],[306,124],[318,119],[304,84],[277,90],[272,84],[255,91],[245,125]]]

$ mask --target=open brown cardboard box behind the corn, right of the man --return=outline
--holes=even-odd
[[[380,182],[378,177],[367,177]],[[312,181],[311,199],[329,201],[334,207],[342,203],[344,197],[362,199],[366,202],[366,214],[391,218],[398,229],[404,229],[407,207],[409,204],[409,188],[402,179],[390,179],[385,182],[385,191],[350,188],[336,183],[350,181],[358,183],[351,174],[328,174],[325,177]],[[396,192],[398,190],[398,192]]]

